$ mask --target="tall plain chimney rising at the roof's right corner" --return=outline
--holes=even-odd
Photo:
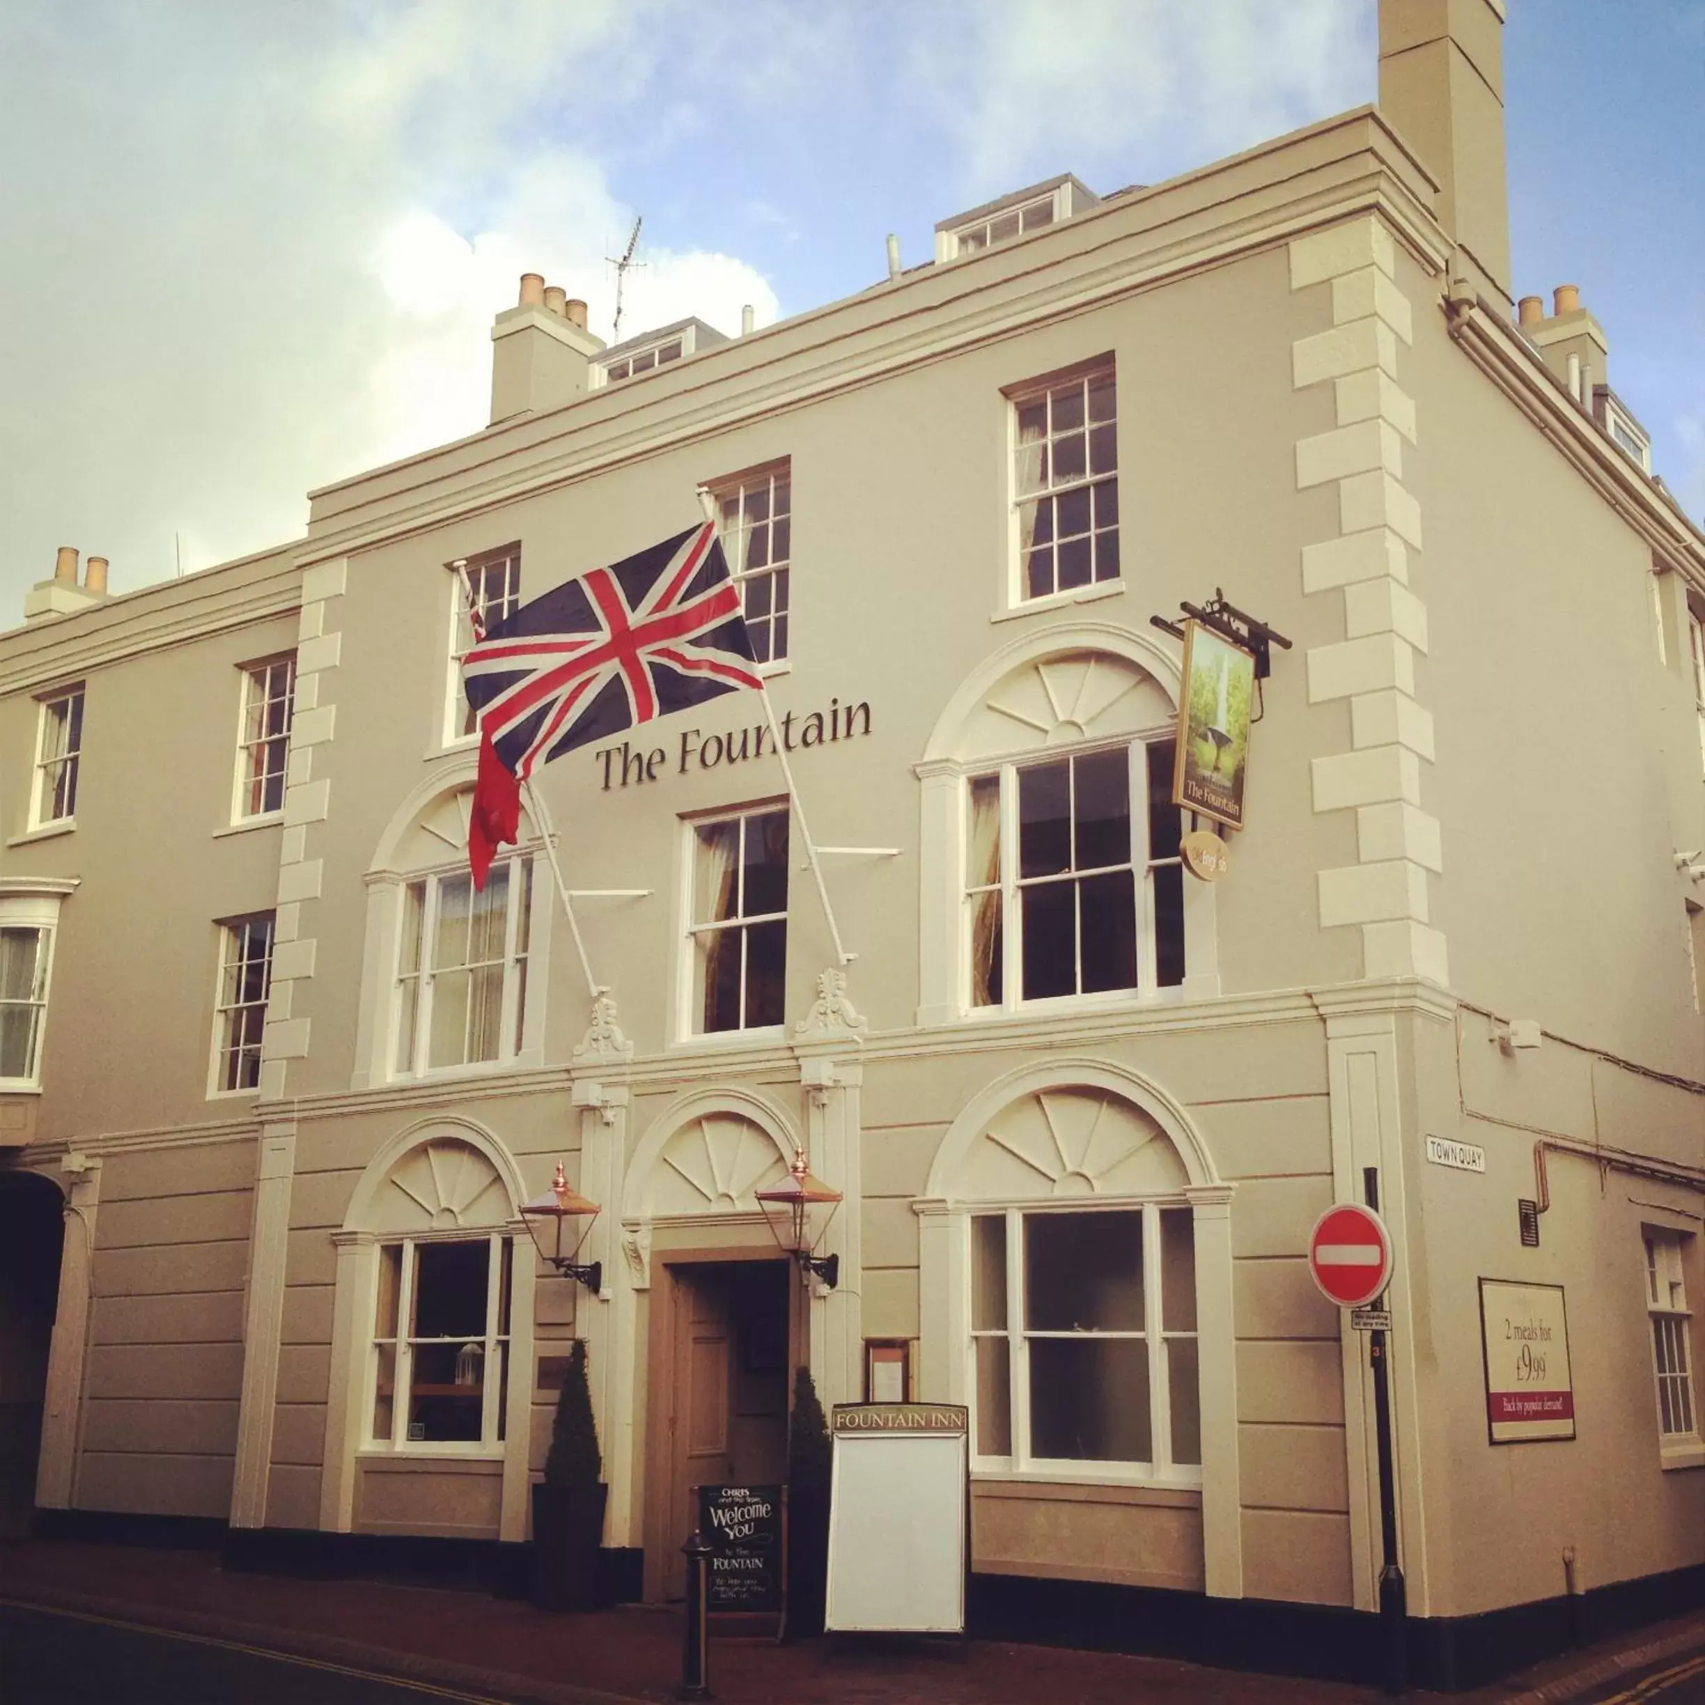
[[[1509,312],[1504,0],[1379,0],[1379,111],[1439,179],[1458,271]]]

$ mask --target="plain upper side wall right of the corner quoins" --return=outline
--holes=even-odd
[[[1705,781],[1691,706],[1666,692],[1652,551],[1419,295],[1405,372],[1422,426],[1432,644],[1419,675],[1437,728],[1427,784],[1453,985],[1702,1078],[1685,917],[1696,890],[1673,854],[1700,844]],[[1691,813],[1685,791],[1673,803],[1678,759],[1693,764]]]

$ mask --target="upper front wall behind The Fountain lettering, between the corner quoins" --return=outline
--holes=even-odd
[[[1298,638],[1337,638],[1330,610],[1301,597],[1291,564],[1316,525],[1321,493],[1298,494],[1291,445],[1292,303],[1282,254],[1226,266],[1117,307],[934,363],[810,409],[600,479],[513,503],[350,561],[336,600],[341,663],[336,740],[317,754],[332,789],[321,895],[303,902],[317,939],[312,1014],[331,1040],[292,1064],[292,1093],[346,1088],[355,1062],[367,904],[360,875],[402,793],[423,777],[442,716],[447,575],[457,554],[522,542],[523,595],[696,520],[692,486],[789,455],[795,569],[791,667],[772,684],[777,713],[864,701],[868,738],[798,752],[812,830],[824,844],[897,846],[881,861],[837,859],[830,890],[859,953],[852,991],[876,1030],[910,1021],[917,1001],[917,781],[910,766],[955,685],[1020,633],[1110,621],[1151,634],[1147,617],[1216,585]],[[1112,351],[1120,372],[1120,500],[1125,590],[1008,616],[1008,404],[1011,385]],[[636,384],[636,407],[644,396]],[[573,418],[575,411],[566,411]],[[1006,617],[1006,619],[996,619]],[[397,667],[407,660],[406,672]],[[779,796],[772,759],[691,767],[687,728],[750,728],[759,706],[730,696],[631,737],[662,747],[653,783],[602,788],[593,750],[542,772],[575,887],[648,887],[650,899],[581,907],[597,975],[609,980],[641,1055],[673,1040],[679,818]],[[1306,708],[1301,655],[1282,655],[1255,738],[1250,830],[1219,892],[1228,992],[1332,982],[1359,968],[1354,939],[1321,933],[1315,873],[1354,861],[1354,822],[1309,808],[1308,760],[1338,738],[1342,706]],[[612,771],[614,776],[614,771]],[[382,781],[379,777],[384,777]],[[815,895],[796,873],[789,1011],[803,1011],[830,962]],[[303,1004],[303,1001],[307,1004]],[[585,1025],[571,953],[552,955],[547,1059]]]

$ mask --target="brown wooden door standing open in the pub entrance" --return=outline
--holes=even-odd
[[[665,1598],[687,1591],[682,1541],[697,1521],[692,1488],[726,1485],[728,1456],[728,1284],[716,1267],[677,1267],[675,1378],[670,1383],[670,1497],[665,1536]]]

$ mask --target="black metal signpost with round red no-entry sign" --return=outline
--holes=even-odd
[[[1391,1466],[1391,1390],[1386,1376],[1386,1332],[1391,1313],[1374,1304],[1391,1282],[1391,1236],[1379,1217],[1379,1168],[1362,1170],[1367,1205],[1328,1207],[1308,1238],[1308,1270],[1321,1296],[1350,1309],[1350,1325],[1367,1333],[1367,1364],[1374,1376],[1374,1430],[1379,1453],[1379,1623],[1384,1633],[1386,1691],[1408,1686],[1405,1621],[1408,1603],[1403,1567],[1396,1558],[1396,1477]]]

